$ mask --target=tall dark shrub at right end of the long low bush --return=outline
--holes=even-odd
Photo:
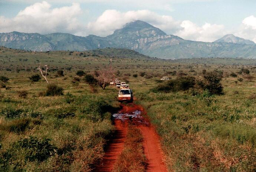
[[[213,72],[204,72],[204,81],[201,87],[208,90],[211,94],[223,94],[223,87],[220,83],[222,73],[214,70]]]

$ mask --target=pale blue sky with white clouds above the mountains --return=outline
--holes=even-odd
[[[255,0],[0,0],[0,33],[105,37],[135,20],[193,41],[234,34],[256,42]]]

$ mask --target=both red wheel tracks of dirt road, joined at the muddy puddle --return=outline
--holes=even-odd
[[[147,172],[167,172],[164,154],[161,150],[159,136],[145,114],[144,109],[134,103],[121,104],[121,110],[112,114],[116,127],[116,134],[106,149],[102,164],[97,166],[96,172],[110,172],[124,148],[128,122],[137,126],[143,136],[142,146],[148,159]]]

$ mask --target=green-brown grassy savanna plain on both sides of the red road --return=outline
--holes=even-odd
[[[27,52],[2,47],[0,76],[9,80],[0,83],[1,171],[90,171],[101,160],[114,132],[111,113],[119,108],[118,90],[98,87],[92,93],[76,71],[94,73],[110,59],[115,77],[129,81],[135,103],[144,106],[155,125],[170,171],[256,170],[256,60],[165,61],[115,49]],[[42,96],[46,81],[30,81],[40,74],[39,62],[50,66],[48,80],[61,86],[64,95]],[[250,74],[238,74],[241,68]],[[223,72],[223,95],[192,89],[152,92],[162,76],[199,80],[204,69]]]

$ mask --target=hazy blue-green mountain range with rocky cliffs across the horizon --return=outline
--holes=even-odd
[[[144,21],[133,21],[115,30],[112,35],[79,37],[72,34],[21,33],[0,34],[0,45],[31,51],[86,51],[97,48],[127,48],[144,55],[163,59],[180,58],[256,58],[253,41],[225,35],[214,42],[190,41],[175,35],[167,35]]]

